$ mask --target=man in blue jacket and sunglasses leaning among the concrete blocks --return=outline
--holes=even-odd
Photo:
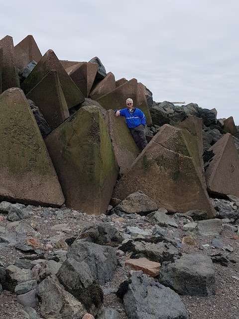
[[[140,152],[147,145],[145,138],[146,119],[143,112],[137,108],[133,107],[133,100],[126,100],[126,108],[122,110],[116,110],[116,116],[124,116],[126,120],[127,127],[131,131],[132,137],[139,148]]]

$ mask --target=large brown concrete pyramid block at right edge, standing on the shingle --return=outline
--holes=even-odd
[[[233,136],[225,134],[208,152],[214,155],[205,163],[208,191],[239,196],[239,156]]]

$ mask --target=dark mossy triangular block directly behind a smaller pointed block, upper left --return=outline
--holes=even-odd
[[[32,72],[23,81],[21,87],[25,94],[32,90],[49,71],[57,71],[59,81],[66,99],[68,108],[79,105],[84,101],[84,96],[66,73],[62,64],[52,50],[48,50],[37,63]]]

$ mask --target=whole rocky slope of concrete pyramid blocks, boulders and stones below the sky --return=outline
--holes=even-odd
[[[114,113],[126,98],[146,117],[141,153]],[[220,267],[239,280],[238,150],[216,109],[1,39],[0,319],[196,319],[201,297],[220,310]]]

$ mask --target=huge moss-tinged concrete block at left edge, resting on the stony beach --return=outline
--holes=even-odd
[[[0,95],[0,114],[0,199],[61,206],[61,186],[20,89],[11,88]]]

